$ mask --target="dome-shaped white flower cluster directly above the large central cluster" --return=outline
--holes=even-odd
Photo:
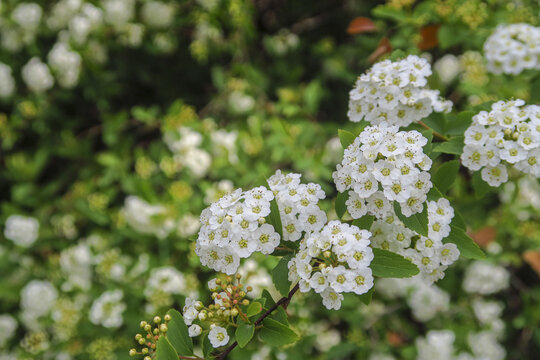
[[[441,98],[438,90],[425,88],[430,75],[427,60],[415,55],[373,65],[358,78],[349,94],[349,119],[407,126],[433,111],[450,111],[451,101]]]

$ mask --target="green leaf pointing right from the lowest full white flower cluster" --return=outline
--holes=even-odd
[[[373,248],[371,270],[374,276],[406,278],[418,274],[418,267],[403,256],[388,250]]]

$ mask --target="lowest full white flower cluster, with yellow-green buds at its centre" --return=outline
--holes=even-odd
[[[288,264],[289,280],[299,281],[302,292],[313,289],[320,294],[327,309],[338,310],[341,293],[361,295],[373,287],[370,237],[367,230],[330,221],[300,244],[300,251]]]

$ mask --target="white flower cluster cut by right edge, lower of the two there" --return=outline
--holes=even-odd
[[[476,114],[465,131],[461,161],[470,170],[482,169],[491,186],[508,180],[505,164],[540,177],[540,106],[524,104],[498,101],[491,111]]]

